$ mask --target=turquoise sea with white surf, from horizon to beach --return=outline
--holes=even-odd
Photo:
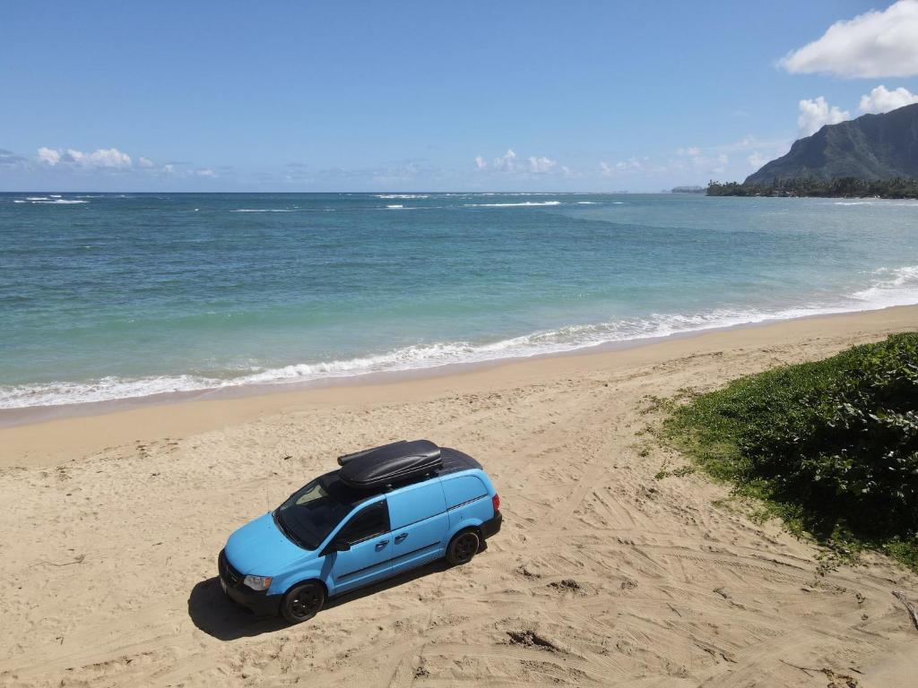
[[[918,303],[918,203],[0,194],[0,408]]]

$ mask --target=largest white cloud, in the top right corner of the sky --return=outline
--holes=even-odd
[[[778,65],[792,73],[847,78],[918,74],[918,0],[835,22],[822,38],[792,50]]]

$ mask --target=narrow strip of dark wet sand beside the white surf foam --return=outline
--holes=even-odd
[[[830,311],[794,317],[766,317],[762,320],[715,327],[673,332],[666,335],[637,337],[615,341],[599,342],[578,346],[570,350],[536,352],[530,355],[506,356],[484,361],[455,361],[430,366],[418,366],[391,371],[358,372],[352,375],[330,374],[326,377],[303,381],[276,380],[265,383],[226,384],[219,387],[126,396],[101,401],[74,402],[57,405],[19,406],[0,408],[0,430],[6,427],[20,427],[71,417],[103,416],[147,406],[186,404],[190,402],[257,397],[270,394],[289,394],[306,390],[333,387],[375,386],[393,384],[417,379],[441,378],[488,368],[500,367],[519,361],[542,361],[558,357],[585,356],[610,351],[640,349],[667,340],[696,338],[714,332],[727,332],[748,327],[769,327],[779,323],[794,322],[823,317],[852,316],[863,313],[886,311],[895,308],[909,308],[918,304],[887,305],[854,311]]]

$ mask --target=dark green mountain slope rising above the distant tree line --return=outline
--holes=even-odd
[[[795,141],[787,155],[768,162],[746,177],[745,183],[841,177],[918,177],[918,103],[884,115],[864,115],[826,125]]]

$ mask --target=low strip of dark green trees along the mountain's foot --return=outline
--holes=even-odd
[[[823,196],[831,198],[918,198],[918,179],[884,179],[870,181],[843,177],[820,180],[775,179],[771,183],[711,182],[709,196]]]

